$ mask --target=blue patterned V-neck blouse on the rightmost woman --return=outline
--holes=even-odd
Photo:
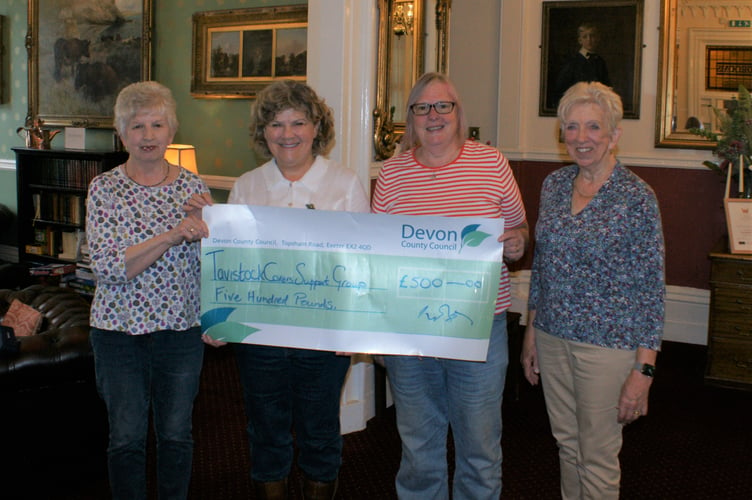
[[[570,165],[543,182],[528,306],[546,333],[602,347],[658,350],[664,244],[650,186],[621,163],[578,214]]]

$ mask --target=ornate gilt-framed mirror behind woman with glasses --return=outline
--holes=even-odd
[[[394,154],[406,103],[425,71],[446,72],[451,0],[379,0],[374,158]]]

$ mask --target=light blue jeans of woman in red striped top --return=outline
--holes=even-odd
[[[494,317],[486,362],[385,356],[402,439],[400,500],[449,498],[446,440],[455,447],[454,500],[501,495],[501,401],[506,313]]]

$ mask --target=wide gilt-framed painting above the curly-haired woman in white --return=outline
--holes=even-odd
[[[308,6],[193,14],[191,95],[254,98],[278,79],[305,81]]]

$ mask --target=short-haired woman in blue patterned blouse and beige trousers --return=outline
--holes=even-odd
[[[648,412],[663,333],[661,218],[614,154],[618,95],[577,83],[558,116],[575,164],[543,183],[521,361],[543,384],[562,497],[616,499],[622,427]]]

